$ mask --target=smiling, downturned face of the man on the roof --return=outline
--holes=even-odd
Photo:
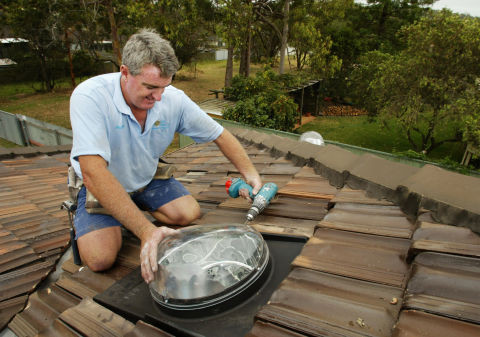
[[[160,69],[154,65],[145,65],[139,75],[132,75],[125,65],[120,67],[120,72],[123,96],[133,112],[152,108],[172,83],[172,77],[161,77]]]

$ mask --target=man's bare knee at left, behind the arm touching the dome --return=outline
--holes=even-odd
[[[120,226],[107,227],[82,235],[77,239],[82,262],[92,271],[110,268],[122,247]]]

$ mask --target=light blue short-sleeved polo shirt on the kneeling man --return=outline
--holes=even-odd
[[[120,73],[100,75],[82,82],[70,98],[73,146],[70,161],[82,177],[78,157],[99,155],[127,192],[147,185],[158,159],[175,132],[197,143],[217,139],[223,127],[185,93],[168,86],[162,99],[148,110],[145,130],[123,98]]]

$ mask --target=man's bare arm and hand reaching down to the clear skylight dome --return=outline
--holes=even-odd
[[[158,267],[158,243],[175,231],[167,227],[156,227],[144,216],[120,182],[107,169],[107,162],[102,157],[80,156],[78,160],[85,187],[103,208],[141,240],[142,277],[147,283],[153,281],[153,273]]]

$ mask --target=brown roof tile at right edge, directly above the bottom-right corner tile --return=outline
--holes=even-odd
[[[480,259],[421,253],[413,263],[404,305],[480,323]]]

